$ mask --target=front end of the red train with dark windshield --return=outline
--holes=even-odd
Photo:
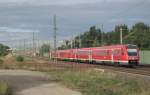
[[[139,49],[136,45],[127,45],[127,54],[130,65],[139,64]]]

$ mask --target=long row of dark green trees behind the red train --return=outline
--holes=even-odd
[[[150,49],[150,26],[144,22],[135,23],[131,29],[128,25],[116,25],[113,31],[105,32],[96,26],[78,36],[72,41],[67,40],[58,49],[87,48],[120,44],[122,29],[123,44],[135,44],[140,49]]]

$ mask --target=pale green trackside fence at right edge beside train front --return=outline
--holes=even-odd
[[[140,63],[150,64],[150,51],[140,51]]]

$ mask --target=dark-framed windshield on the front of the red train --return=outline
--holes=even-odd
[[[137,56],[137,46],[136,45],[128,45],[127,47],[128,56]]]

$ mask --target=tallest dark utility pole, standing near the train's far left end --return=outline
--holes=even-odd
[[[53,18],[53,24],[54,24],[54,54],[56,55],[56,50],[57,50],[57,25],[56,25],[56,15],[54,15]],[[54,56],[55,57],[55,56]]]

